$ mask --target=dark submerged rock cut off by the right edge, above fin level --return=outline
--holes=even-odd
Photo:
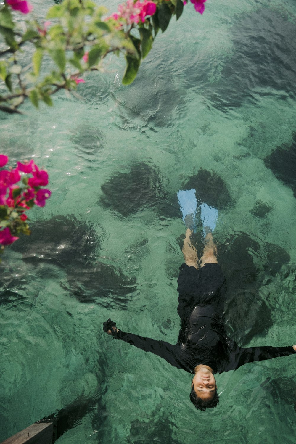
[[[276,178],[291,188],[296,198],[296,133],[290,146],[283,144],[277,147],[264,159],[264,163]]]

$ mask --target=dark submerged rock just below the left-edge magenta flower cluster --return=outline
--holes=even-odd
[[[38,220],[30,228],[30,236],[23,236],[11,246],[23,254],[25,261],[47,261],[67,267],[75,260],[83,264],[95,259],[98,234],[91,224],[77,220],[73,214]]]

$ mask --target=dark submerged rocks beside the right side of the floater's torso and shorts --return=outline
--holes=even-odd
[[[280,246],[257,242],[237,233],[219,247],[218,262],[226,281],[226,312],[231,337],[240,345],[264,336],[272,326],[269,301],[259,295],[262,282],[273,277],[290,260]]]

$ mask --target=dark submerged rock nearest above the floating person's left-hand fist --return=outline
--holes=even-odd
[[[79,262],[67,270],[67,288],[80,302],[93,302],[109,309],[126,309],[130,293],[136,290],[136,278],[120,269],[96,262],[81,267]]]

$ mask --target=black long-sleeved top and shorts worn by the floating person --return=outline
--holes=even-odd
[[[171,365],[194,373],[198,364],[209,365],[213,373],[235,370],[253,361],[296,353],[288,347],[242,348],[225,334],[224,279],[218,264],[197,270],[183,264],[178,277],[178,314],[181,329],[177,344],[156,341],[119,330],[114,337],[154,353]]]

